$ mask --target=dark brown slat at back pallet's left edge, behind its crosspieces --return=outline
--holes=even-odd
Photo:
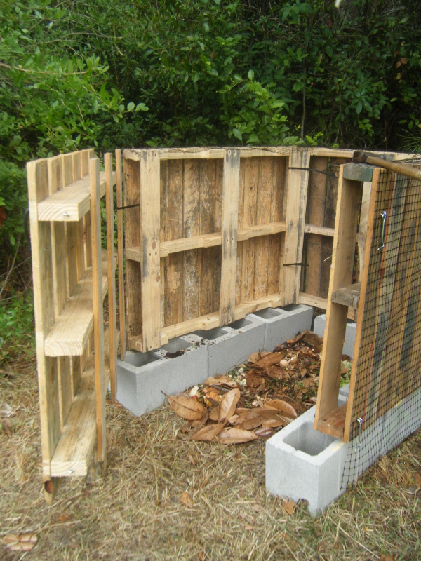
[[[140,245],[140,164],[123,159],[124,185],[124,234],[126,247]],[[142,334],[142,298],[139,294],[140,264],[126,260],[126,331],[127,337],[139,337]]]

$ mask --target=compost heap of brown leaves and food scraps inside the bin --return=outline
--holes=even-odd
[[[168,403],[186,423],[178,437],[240,444],[267,439],[316,403],[323,339],[305,331]],[[343,357],[344,359],[349,357]],[[342,363],[342,374],[350,370]]]

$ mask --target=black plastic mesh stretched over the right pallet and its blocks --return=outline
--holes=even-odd
[[[385,170],[378,178],[359,306],[361,340],[349,396],[349,440],[355,439],[356,445],[349,448],[345,487],[356,471],[370,465],[365,465],[368,457],[373,463],[391,450],[417,428],[414,419],[420,419],[421,182]],[[385,414],[399,403],[388,423]]]

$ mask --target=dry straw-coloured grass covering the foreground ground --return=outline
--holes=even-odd
[[[107,477],[62,482],[50,508],[33,364],[0,376],[4,403],[15,427],[0,433],[0,534],[39,537],[29,553],[0,546],[4,560],[421,559],[420,431],[314,520],[305,503],[289,515],[267,496],[264,442],[180,440],[184,421],[167,408],[135,418],[108,406]],[[192,508],[180,502],[183,492]]]

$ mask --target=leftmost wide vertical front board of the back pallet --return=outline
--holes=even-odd
[[[140,161],[140,224],[142,236],[142,347],[157,349],[160,337],[160,255],[159,255],[159,154],[142,151]]]

